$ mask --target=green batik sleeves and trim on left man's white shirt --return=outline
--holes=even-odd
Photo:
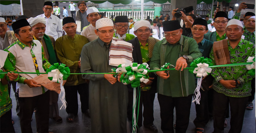
[[[15,67],[16,65],[16,58],[15,56],[10,52],[8,51],[8,49],[12,46],[14,46],[15,44],[18,44],[22,49],[24,49],[25,47],[29,47],[28,45],[20,42],[19,40],[17,40],[15,43],[13,43],[12,45],[8,46],[7,48],[5,48],[4,51],[7,51],[9,52],[8,54],[8,58],[9,60],[11,61],[12,63],[12,66]],[[33,48],[33,46],[36,46],[37,44],[35,44],[34,42],[31,43],[31,47]],[[38,70],[38,64],[37,64],[37,59],[35,58],[35,55],[34,55],[34,52],[32,51],[32,48],[30,49],[30,52],[31,52],[31,56],[33,58],[33,61],[34,61],[34,66],[35,66],[35,71],[37,73],[39,73],[39,70]],[[48,62],[47,59],[44,58],[44,48],[42,46],[42,67],[44,70],[48,69],[49,67],[51,66],[51,64]],[[38,74],[39,75],[39,74]],[[17,81],[18,83],[24,83],[26,78],[22,77],[22,76],[19,76],[19,80]]]

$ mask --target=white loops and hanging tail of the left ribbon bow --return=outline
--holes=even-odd
[[[48,73],[48,77],[53,77],[52,82],[60,82],[60,95],[63,93],[63,95],[60,97],[60,101],[62,102],[63,109],[67,108],[67,102],[65,100],[65,89],[63,87],[63,74],[60,73],[59,69],[54,69]]]

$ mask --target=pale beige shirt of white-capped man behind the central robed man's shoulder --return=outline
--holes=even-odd
[[[81,35],[85,36],[89,42],[98,39],[99,36],[95,34],[96,27],[94,27],[92,24],[90,26],[86,27],[82,32]]]

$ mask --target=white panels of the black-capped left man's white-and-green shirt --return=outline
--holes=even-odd
[[[42,64],[42,44],[38,40],[33,40],[36,46],[25,47],[22,49],[18,44],[14,44],[11,46],[8,51],[10,51],[15,56],[15,68],[18,72],[33,72],[35,71],[34,61],[30,50],[35,54],[35,58],[37,59],[38,69],[40,73],[45,73]],[[37,77],[37,74],[19,74],[24,78],[33,79]],[[41,95],[42,87],[33,87],[30,88],[27,84],[17,83],[16,89],[19,89],[19,97],[34,97],[37,95]],[[45,88],[45,91],[48,89]]]

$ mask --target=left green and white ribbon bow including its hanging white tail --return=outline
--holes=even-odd
[[[60,101],[63,103],[63,105],[60,107],[60,109],[63,107],[63,109],[66,109],[67,102],[65,100],[65,89],[63,87],[63,80],[67,80],[67,78],[70,75],[70,69],[68,67],[65,67],[65,64],[54,63],[52,66],[49,67],[49,69],[46,70],[46,73],[48,74],[48,79],[50,79],[52,82],[60,82],[60,95],[63,93],[62,97],[60,97]]]

